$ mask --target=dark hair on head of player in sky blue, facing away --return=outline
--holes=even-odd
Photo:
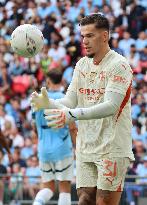
[[[62,76],[63,76],[62,71],[57,68],[54,68],[47,73],[47,78],[49,78],[54,84],[61,83]]]

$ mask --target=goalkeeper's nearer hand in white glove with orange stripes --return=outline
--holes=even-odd
[[[76,120],[72,110],[69,108],[63,109],[45,109],[45,119],[47,120],[48,127],[57,129],[62,128],[66,124]]]

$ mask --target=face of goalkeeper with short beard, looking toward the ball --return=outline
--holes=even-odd
[[[93,58],[101,52],[101,48],[106,42],[106,31],[97,29],[95,24],[81,26],[81,36],[83,45],[86,50],[86,55]]]

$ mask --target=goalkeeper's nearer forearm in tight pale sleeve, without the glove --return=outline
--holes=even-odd
[[[124,96],[120,94],[108,94],[105,101],[89,108],[71,109],[70,113],[76,120],[101,119],[114,115],[120,107]]]

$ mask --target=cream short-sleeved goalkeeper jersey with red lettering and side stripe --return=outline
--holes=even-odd
[[[124,95],[115,115],[79,120],[76,151],[81,160],[95,161],[103,157],[129,157],[134,160],[130,97],[132,76],[127,60],[112,50],[99,65],[88,57],[78,61],[67,91],[67,94],[76,93],[77,107],[91,107],[104,102],[106,91]]]

